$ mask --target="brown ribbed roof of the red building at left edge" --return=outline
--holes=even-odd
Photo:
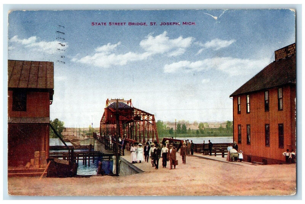
[[[8,60],[8,88],[54,89],[54,63]]]

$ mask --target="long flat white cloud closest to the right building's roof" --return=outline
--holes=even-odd
[[[232,57],[215,57],[196,62],[180,61],[172,64],[166,64],[164,66],[164,72],[174,73],[220,70],[224,73],[228,73],[230,76],[238,76],[248,74],[249,72],[257,72],[265,67],[267,63],[267,58],[261,60],[249,60]]]

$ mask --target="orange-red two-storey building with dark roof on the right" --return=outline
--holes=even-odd
[[[290,45],[294,46],[295,43]],[[284,49],[284,48],[282,48]],[[288,50],[288,46],[285,47]],[[233,97],[233,140],[244,161],[264,164],[285,162],[286,149],[296,150],[296,56],[266,66]]]

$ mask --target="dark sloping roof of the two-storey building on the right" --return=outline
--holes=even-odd
[[[244,85],[239,87],[230,97],[253,91],[296,83],[296,56],[274,61],[257,73]]]

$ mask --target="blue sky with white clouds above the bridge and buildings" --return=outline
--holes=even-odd
[[[8,59],[54,62],[50,119],[66,127],[99,127],[107,98],[156,120],[232,121],[230,94],[296,42],[295,22],[289,9],[13,11]]]

